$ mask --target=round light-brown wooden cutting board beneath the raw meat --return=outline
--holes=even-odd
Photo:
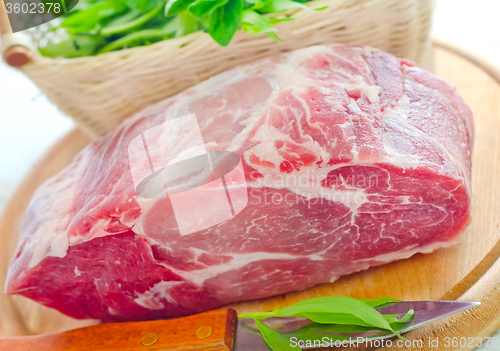
[[[238,312],[272,310],[276,305],[284,307],[322,295],[393,296],[404,300],[460,298],[481,301],[482,305],[406,336],[424,340],[438,336],[484,337],[500,328],[500,260],[497,261],[500,255],[500,74],[444,45],[435,45],[433,56],[435,73],[457,87],[475,118],[472,223],[462,234],[460,243],[351,274],[331,284],[231,307]],[[20,221],[33,192],[68,165],[88,143],[89,139],[79,130],[71,132],[35,166],[7,206],[0,220],[1,286],[17,245]],[[0,293],[0,311],[0,337],[57,332],[96,323],[76,321],[28,299],[3,293]],[[431,348],[426,348],[424,343],[423,349]]]

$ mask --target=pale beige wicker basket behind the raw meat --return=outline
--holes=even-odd
[[[323,11],[293,11],[277,25],[280,43],[241,30],[228,47],[204,32],[99,56],[49,59],[21,67],[90,136],[143,107],[237,65],[314,44],[370,45],[419,62],[429,46],[434,0],[317,0]]]

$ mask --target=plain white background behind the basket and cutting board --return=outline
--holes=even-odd
[[[500,68],[499,0],[437,0],[433,33]],[[73,127],[27,78],[0,63],[0,213],[33,163]]]

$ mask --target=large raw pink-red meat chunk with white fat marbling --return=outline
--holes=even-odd
[[[192,114],[199,150],[197,127],[179,139],[167,123]],[[146,141],[148,161],[129,161]],[[6,292],[75,318],[178,317],[447,247],[470,222],[472,143],[469,108],[412,62],[355,45],[264,59],[139,112],[41,186]],[[174,185],[227,195],[210,206],[136,189],[154,164],[221,151],[241,157],[233,178]],[[196,222],[227,201],[231,219]]]

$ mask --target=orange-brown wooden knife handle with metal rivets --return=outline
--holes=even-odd
[[[58,334],[0,339],[6,351],[232,351],[236,312],[219,309],[147,322],[100,324]]]

